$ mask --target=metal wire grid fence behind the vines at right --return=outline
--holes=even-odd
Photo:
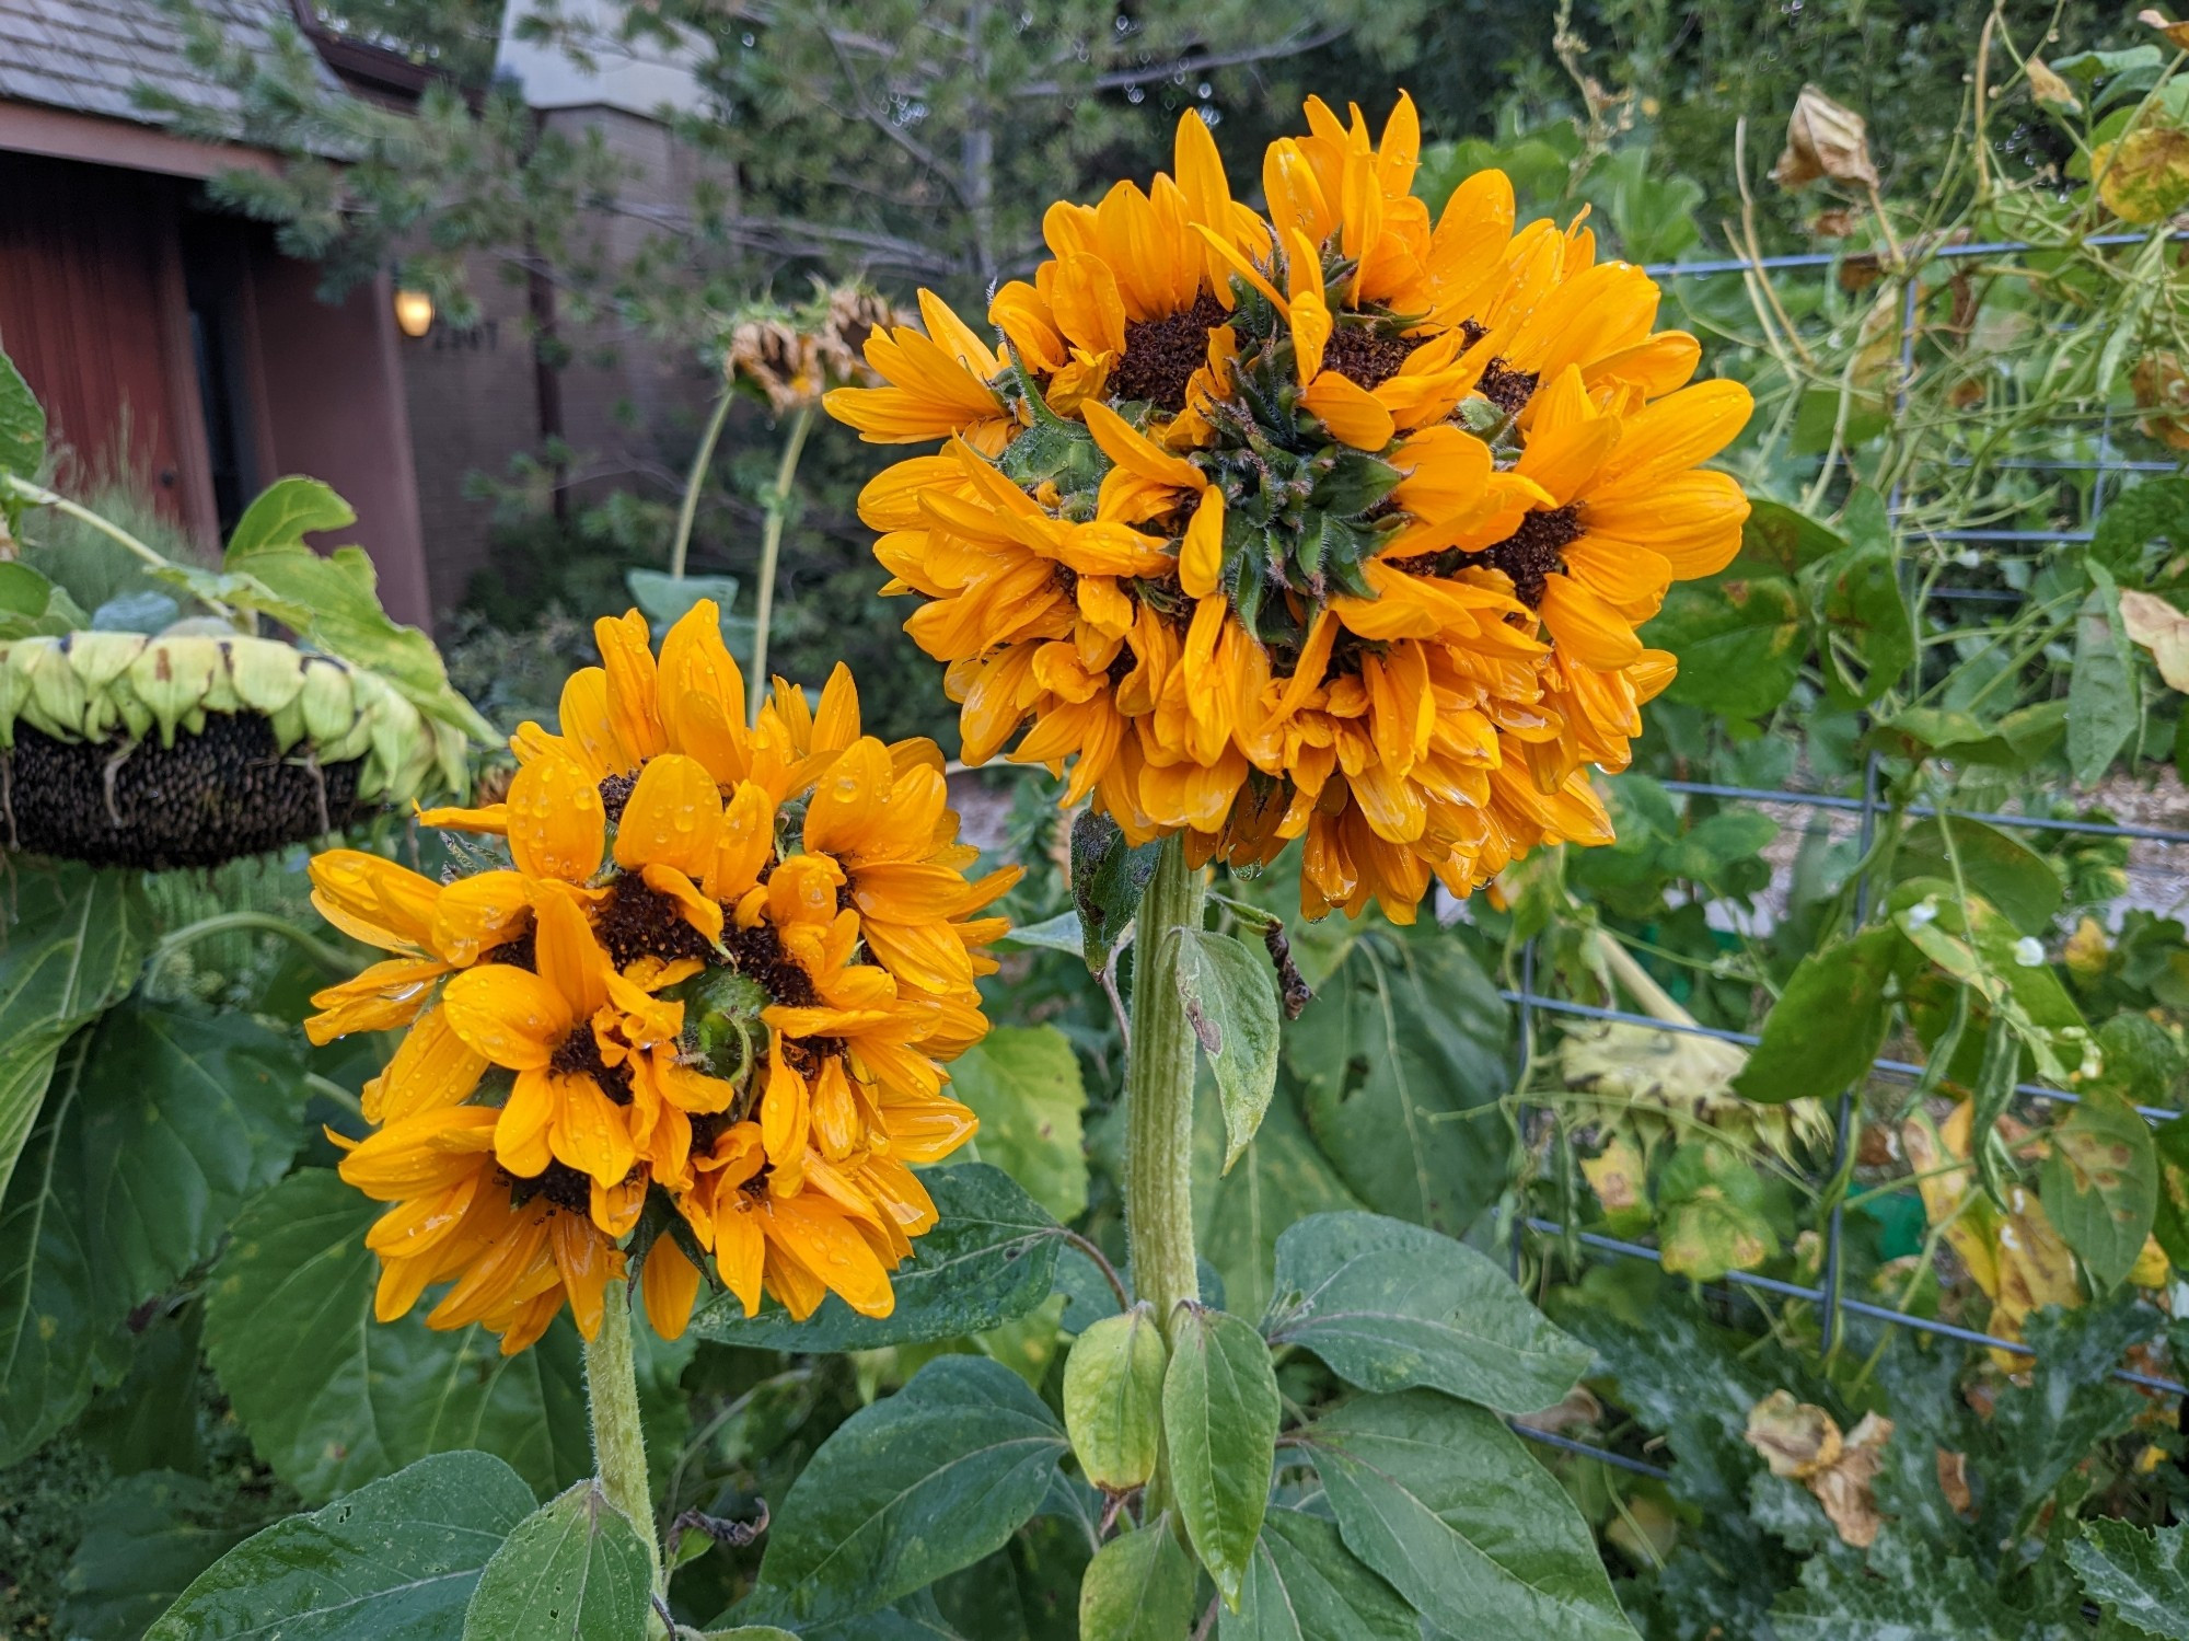
[[[2086,238],[2082,243],[2084,245],[2130,245],[2130,243],[2143,243],[2145,238],[2147,238],[2145,234],[2099,234],[2099,236],[2090,236],[2090,238]],[[2045,249],[2053,249],[2053,247],[2031,245],[2031,243],[2023,243],[2023,241],[1996,241],[1996,243],[1970,243],[1970,245],[1942,245],[1942,247],[1931,249],[1926,256],[1931,260],[1953,260],[1953,258],[1970,258],[1970,256],[2020,256],[2020,254],[2045,252]],[[1740,274],[1742,278],[1751,278],[1753,280],[1753,278],[1767,278],[1771,274],[1797,271],[1797,269],[1837,271],[1837,269],[1845,267],[1848,260],[1850,260],[1848,256],[1837,254],[1837,252],[1815,252],[1815,254],[1799,254],[1799,256],[1767,256],[1760,263],[1758,260],[1747,260],[1747,258],[1699,260],[1699,263],[1666,263],[1666,265],[1653,265],[1646,271],[1653,278],[1659,278],[1659,280],[1692,280],[1692,278],[1729,276],[1729,274]],[[1918,304],[1918,293],[1920,293],[1920,271],[1909,276],[1909,280],[1907,280],[1907,295],[1904,295],[1904,304],[1902,304],[1902,317],[1900,317],[1900,376],[1898,376],[1900,387],[1898,387],[1898,396],[1896,396],[1896,403],[1893,403],[1896,414],[1907,409],[1907,383],[1909,383],[1913,365],[1915,365],[1915,337],[1918,337],[1918,326],[1915,326],[1918,306],[1915,304]],[[2104,510],[2104,503],[2106,503],[2106,479],[2108,477],[2128,475],[2128,473],[2178,473],[2180,470],[2178,464],[2174,464],[2174,462],[2147,462],[2147,459],[2123,459],[2123,457],[2117,457],[2112,453],[2112,438],[2110,438],[2110,433],[2112,433],[2112,429],[2110,429],[2110,416],[2108,416],[2099,424],[2097,455],[2093,459],[2049,459],[2049,457],[2018,457],[2018,459],[2007,459],[2007,466],[2029,468],[2029,470],[2045,470],[2045,473],[2090,473],[2093,475],[2093,484],[2090,484],[2088,523],[2084,527],[2080,527],[2080,529],[2069,529],[2069,527],[2060,527],[2060,529],[1920,529],[1920,527],[1907,527],[1904,529],[1902,527],[1902,514],[1904,514],[1902,503],[1904,503],[1904,497],[1900,494],[1898,488],[1887,497],[1887,521],[1889,521],[1896,538],[1900,534],[1907,534],[1909,538],[1918,538],[1918,540],[1970,543],[1970,545],[1977,545],[1977,543],[1985,543],[1985,545],[2027,545],[2027,547],[2038,547],[2038,549],[2058,547],[2058,545],[2088,543],[2095,536],[2095,525],[2097,525],[2097,519],[2099,519],[2099,514]],[[1929,589],[1918,589],[1918,586],[1911,584],[1907,571],[1909,571],[1909,562],[1907,562],[1907,558],[1902,558],[1902,597],[1909,604],[1911,615],[1918,619],[1918,632],[1922,630],[1920,628],[1920,606],[1926,600],[1935,600],[1939,604],[1955,604],[1955,602],[1961,602],[1961,604],[2012,604],[2012,602],[2020,602],[2025,597],[2018,591],[2012,591],[2012,589],[1992,589],[1992,586],[1929,586]],[[1893,821],[1893,818],[1900,818],[1900,816],[1907,816],[1907,818],[1946,816],[1946,818],[1961,818],[1961,821],[1972,821],[1972,823],[1985,823],[1985,825],[1994,825],[1994,827],[2012,827],[2012,829],[2040,831],[2040,834],[2049,831],[2049,834],[2077,834],[2077,836],[2090,836],[2090,838],[2115,838],[2115,840],[2126,840],[2126,842],[2189,845],[2189,829],[2169,829],[2169,827],[2150,827],[2150,825],[2117,825],[2117,823],[2110,823],[2110,821],[2075,821],[2075,818],[2051,818],[2051,816],[2029,816],[2029,814],[1996,814],[1996,812],[1981,812],[1981,810],[1939,810],[1939,807],[1933,807],[1933,805],[1926,805],[1926,803],[1900,803],[1900,805],[1893,805],[1893,803],[1887,801],[1887,794],[1883,790],[1880,757],[1878,757],[1878,753],[1869,753],[1869,757],[1867,757],[1867,764],[1865,764],[1865,770],[1863,770],[1863,792],[1861,792],[1861,796],[1843,796],[1843,794],[1830,794],[1830,792],[1806,792],[1806,790],[1797,790],[1797,788],[1725,785],[1725,783],[1714,783],[1714,781],[1661,781],[1659,785],[1666,792],[1688,794],[1688,796],[1701,796],[1701,799],[1747,801],[1747,803],[1775,803],[1775,805],[1795,805],[1795,807],[1806,807],[1806,810],[1823,810],[1823,812],[1852,814],[1856,818],[1856,842],[1858,842],[1858,860],[1861,860],[1861,864],[1858,864],[1858,877],[1856,877],[1856,886],[1854,886],[1856,923],[1861,923],[1867,917],[1867,910],[1869,910],[1869,895],[1872,895],[1872,882],[1869,882],[1869,856],[1872,856],[1872,847],[1869,845],[1872,845],[1872,840],[1874,840],[1876,829],[1878,829],[1880,823]],[[1742,1048],[1753,1048],[1760,1041],[1753,1033],[1747,1033],[1747,1031],[1727,1031],[1727,1028],[1721,1028],[1721,1026],[1666,1022],[1666,1020],[1657,1020],[1653,1015],[1629,1013],[1624,1009],[1605,1009],[1605,1006],[1578,1002],[1574,998],[1559,998],[1559,996],[1545,993],[1537,985],[1537,947],[1534,947],[1534,941],[1528,941],[1521,947],[1519,978],[1521,978],[1519,987],[1506,987],[1506,989],[1502,989],[1502,996],[1506,998],[1506,1002],[1510,1002],[1515,1006],[1517,1017],[1519,1017],[1519,1066],[1517,1066],[1515,1087],[1521,1090],[1521,1098],[1526,1098],[1528,1079],[1530,1079],[1530,1072],[1534,1068],[1537,1026],[1539,1026],[1539,1017],[1541,1015],[1618,1022],[1618,1024],[1648,1026],[1653,1031],[1670,1031],[1670,1033],[1692,1033],[1696,1037],[1712,1037],[1716,1041],[1738,1044]],[[1913,1066],[1909,1061],[1900,1061],[1900,1059],[1876,1059],[1872,1063],[1872,1068],[1869,1068],[1869,1074],[1876,1076],[1876,1079],[1885,1079],[1885,1081],[1915,1083],[1915,1081],[1920,1081],[1924,1076],[1924,1068],[1922,1066]],[[2047,1087],[2042,1083],[2016,1083],[2014,1092],[2016,1092],[2016,1096],[2027,1098],[2027,1101],[2049,1101],[2049,1103],[2066,1103],[2066,1105],[2073,1105],[2073,1103],[2080,1101],[2080,1096],[2073,1090]],[[1848,1090],[1841,1092],[1839,1103],[1837,1103],[1834,1125],[1832,1125],[1832,1162],[1830,1162],[1830,1171],[1826,1175],[1826,1179],[1832,1179],[1832,1182],[1843,1182],[1843,1179],[1850,1177],[1850,1166],[1848,1164],[1850,1164],[1850,1140],[1852,1140],[1854,1112],[1856,1112],[1856,1096],[1858,1096],[1858,1087],[1848,1087]],[[2174,1120],[2178,1116],[2171,1109],[2152,1107],[2152,1105],[2139,1105],[2136,1112],[2147,1122],[2167,1122],[2167,1120]],[[1526,1120],[1526,1105],[1524,1105],[1524,1120]],[[1845,1192],[1841,1190],[1839,1197],[1832,1203],[1832,1212],[1830,1212],[1830,1219],[1828,1219],[1828,1225],[1826,1225],[1823,1262],[1821,1262],[1821,1280],[1819,1282],[1815,1282],[1815,1284],[1784,1282],[1784,1280],[1777,1280],[1777,1278],[1758,1276],[1753,1271],[1727,1271],[1725,1278],[1723,1278],[1723,1282],[1729,1289],[1749,1291],[1749,1293],[1764,1293],[1764,1295],[1773,1295],[1773,1297],[1782,1297],[1782,1300],[1797,1300],[1797,1302],[1806,1302],[1806,1304],[1817,1306],[1819,1337],[1821,1337],[1823,1350],[1832,1348],[1832,1343],[1841,1337],[1848,1319],[1854,1317],[1854,1319],[1863,1319],[1863,1322],[1887,1326],[1887,1328],[1911,1328],[1915,1332],[1933,1335],[1933,1337],[1939,1337],[1939,1339],[1953,1339],[1953,1341],[1966,1343],[1966,1346],[1981,1346],[1981,1348],[1990,1348],[1990,1350],[2003,1350],[2003,1352],[2018,1354],[2018,1357],[2034,1357],[2036,1354],[2029,1346],[2025,1346],[2018,1339],[2005,1339],[2005,1337],[1999,1337],[1999,1335],[1981,1332],[1977,1328],[1964,1328],[1964,1326],[1953,1324],[1953,1322],[1942,1322],[1937,1317],[1924,1317],[1924,1315],[1915,1315],[1911,1311],[1902,1311],[1902,1308],[1896,1308],[1896,1306],[1872,1304],[1867,1300],[1858,1300],[1858,1297],[1845,1295],[1841,1291],[1841,1287],[1843,1287],[1843,1256],[1845,1256],[1843,1197],[1845,1197]],[[1510,1258],[1513,1258],[1515,1276],[1519,1276],[1521,1260],[1524,1260],[1524,1249],[1526,1249],[1526,1238],[1528,1236],[1559,1238],[1567,1249],[1587,1249],[1589,1254],[1600,1254],[1605,1258],[1615,1258],[1615,1260],[1661,1262],[1659,1249],[1655,1249],[1655,1247],[1651,1247],[1646,1243],[1624,1241],[1624,1238],[1618,1238],[1618,1236],[1602,1236],[1602,1234],[1585,1232],[1585,1230],[1578,1230],[1578,1227],[1572,1227],[1572,1225],[1563,1225],[1563,1223],[1550,1221],[1550,1219],[1537,1219],[1537,1217],[1515,1214],[1513,1225],[1510,1225]],[[2150,1392],[2161,1392],[2161,1394],[2169,1394],[2169,1396],[2189,1396],[2189,1387],[2185,1387],[2185,1385],[2180,1385],[2180,1383],[2176,1383],[2171,1378],[2156,1376],[2156,1374],[2143,1374],[2143,1372],[2134,1372],[2130,1368],[2115,1368],[2112,1376],[2117,1381],[2123,1381],[2128,1385],[2139,1385],[2139,1387],[2150,1389]],[[1519,1422],[1519,1420],[1513,1422],[1513,1429],[1515,1429],[1515,1433],[1528,1438],[1530,1442],[1541,1442],[1545,1446],[1554,1446],[1554,1448],[1561,1448],[1565,1453],[1576,1453],[1580,1457],[1589,1457],[1589,1459],[1596,1459],[1600,1464],[1609,1464],[1609,1466],[1613,1466],[1618,1470],[1626,1470],[1626,1473],[1633,1473],[1633,1475],[1657,1477],[1657,1479],[1664,1479],[1664,1477],[1670,1475],[1668,1470],[1664,1470],[1664,1468],[1659,1468],[1655,1464],[1646,1464],[1642,1459],[1635,1459],[1631,1455],[1613,1453],[1609,1448],[1602,1448],[1602,1446],[1596,1446],[1596,1444],[1589,1444],[1589,1442],[1580,1442],[1580,1440],[1574,1440],[1570,1435],[1561,1435],[1556,1431],[1534,1429],[1534,1427],[1530,1427],[1526,1422]]]

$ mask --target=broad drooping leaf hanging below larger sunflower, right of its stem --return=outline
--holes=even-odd
[[[1453,1236],[1510,1175],[1510,1017],[1440,930],[1364,939],[1292,1028],[1307,1127],[1366,1203]]]

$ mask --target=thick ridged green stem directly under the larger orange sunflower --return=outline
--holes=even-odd
[[[1206,888],[1167,838],[1140,899],[1132,963],[1132,1055],[1125,1063],[1125,1238],[1132,1287],[1165,1332],[1202,1293],[1193,1258],[1193,1022],[1178,993],[1173,930],[1202,926]]]

